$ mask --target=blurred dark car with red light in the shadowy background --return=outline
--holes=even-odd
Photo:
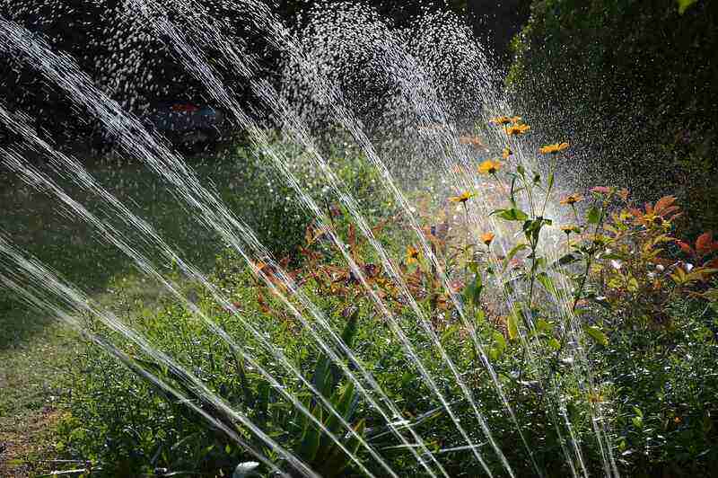
[[[148,131],[166,137],[173,146],[198,152],[214,148],[226,128],[224,112],[193,102],[161,102],[138,116]],[[111,149],[117,137],[111,132],[95,134],[93,147],[100,151]]]

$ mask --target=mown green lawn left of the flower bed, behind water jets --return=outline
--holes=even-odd
[[[233,196],[250,183],[242,178],[256,173],[238,157],[197,160],[192,165],[201,181],[212,181],[220,195]],[[200,268],[214,262],[221,245],[181,208],[156,175],[127,161],[86,160],[85,164],[97,180],[153,224],[189,261]],[[0,231],[13,243],[102,304],[112,304],[116,298],[106,294],[108,288],[121,288],[130,301],[149,306],[162,295],[138,277],[122,252],[93,236],[90,226],[61,214],[57,199],[32,190],[13,173],[3,171],[2,176]],[[98,199],[69,181],[60,185],[90,210],[99,206]],[[62,393],[58,378],[74,359],[80,342],[64,324],[30,310],[3,289],[0,331],[0,447],[4,447],[0,475],[24,476],[42,469],[40,455],[51,454],[48,428],[57,418],[53,403]]]

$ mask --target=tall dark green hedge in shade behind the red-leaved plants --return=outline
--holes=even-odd
[[[674,191],[718,226],[718,2],[535,0],[512,49],[521,112],[573,140],[576,177]]]

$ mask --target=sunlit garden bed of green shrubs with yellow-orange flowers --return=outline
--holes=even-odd
[[[493,122],[513,148],[530,131],[515,117]],[[139,314],[130,308],[126,320],[281,447],[328,475],[361,475],[362,466],[381,475],[377,456],[401,474],[421,474],[411,447],[433,452],[450,475],[501,474],[495,450],[485,443],[479,464],[459,432],[458,425],[472,442],[486,441],[474,406],[519,475],[571,473],[569,462],[579,466],[566,459],[574,445],[589,473],[601,473],[614,448],[629,472],[712,465],[718,457],[709,446],[715,438],[709,397],[718,391],[711,365],[718,348],[709,317],[718,289],[709,281],[718,243],[707,234],[693,244],[676,238],[676,199],[638,207],[626,190],[608,187],[562,199],[574,219],[558,227],[546,217],[547,204],[568,147],[540,148],[546,172],[530,172],[509,148],[503,161],[479,164],[484,190],[498,191],[485,198],[495,204],[486,213],[501,225],[495,231],[474,226],[477,209],[469,204],[476,193],[467,190],[417,210],[422,237],[400,210],[376,211],[383,220],[373,223],[372,235],[382,249],[360,234],[349,211],[328,204],[326,215],[306,226],[295,257],[244,264],[224,256],[211,281],[229,302],[206,293],[198,306],[236,349],[189,304],[167,302],[159,312]],[[548,247],[550,237],[560,245]],[[384,250],[394,259],[385,261]],[[130,367],[165,380],[215,424],[296,471],[185,372],[91,325],[126,351]],[[361,392],[360,385],[372,389],[364,370],[396,410],[378,392]],[[64,447],[96,460],[105,473],[156,467],[231,473],[252,458],[102,350],[86,354],[74,380]],[[453,416],[439,394],[451,401]],[[414,443],[412,430],[422,443]]]

